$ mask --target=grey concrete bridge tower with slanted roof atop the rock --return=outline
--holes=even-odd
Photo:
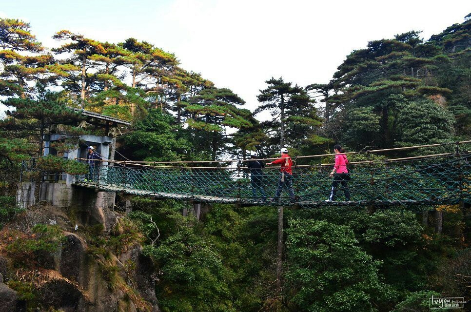
[[[84,117],[84,120],[74,126],[92,130],[91,133],[97,133],[97,135],[79,136],[76,149],[65,152],[63,157],[73,160],[86,158],[88,147],[91,146],[104,160],[114,159],[113,145],[116,144],[116,138],[121,134],[121,129],[129,126],[130,122],[86,110],[74,110]],[[51,143],[67,138],[71,137],[53,133],[44,135],[43,156],[57,155],[58,152]],[[34,166],[34,161],[32,159],[27,166]],[[108,162],[100,162],[100,165],[106,166]],[[25,169],[28,170],[28,168]],[[116,193],[77,187],[73,185],[74,182],[75,176],[66,173],[46,174],[40,181],[21,181],[17,191],[17,204],[27,208],[39,201],[45,201],[59,208],[73,210],[78,223],[80,221],[84,224],[95,223],[93,222],[95,219],[99,223],[106,224],[106,211],[115,205]]]

